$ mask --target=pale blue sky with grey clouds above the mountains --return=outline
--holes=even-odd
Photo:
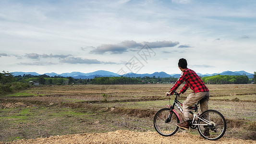
[[[0,0],[0,71],[256,71],[256,0]]]

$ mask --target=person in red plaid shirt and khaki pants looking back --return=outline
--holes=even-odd
[[[208,110],[208,100],[210,97],[210,92],[206,87],[205,83],[201,78],[191,69],[187,68],[187,60],[180,59],[178,63],[179,69],[182,71],[178,81],[171,87],[171,90],[166,93],[166,96],[172,95],[174,91],[185,81],[186,84],[183,86],[179,94],[184,93],[188,87],[190,87],[193,92],[189,94],[186,100],[183,102],[183,123],[177,123],[178,127],[185,130],[189,129],[189,108],[194,105],[197,101],[200,101],[200,108],[202,112]],[[205,98],[204,98],[205,97]],[[209,120],[209,118],[206,118]],[[207,131],[207,134],[209,131]]]

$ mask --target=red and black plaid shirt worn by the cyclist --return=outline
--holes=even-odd
[[[209,91],[205,83],[193,70],[185,69],[182,72],[178,81],[171,87],[171,90],[169,91],[169,92],[172,91],[171,95],[184,81],[186,82],[186,84],[181,89],[182,93],[184,93],[188,87],[190,87],[193,90],[193,93]]]

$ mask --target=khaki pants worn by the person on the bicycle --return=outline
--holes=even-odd
[[[206,98],[204,98],[204,96],[206,96]],[[183,102],[183,119],[190,120],[189,108],[198,101],[200,101],[201,113],[208,110],[209,97],[210,97],[210,92],[198,92],[198,93],[189,94],[187,96],[187,99]],[[205,119],[209,120],[209,116],[207,116],[207,118]]]

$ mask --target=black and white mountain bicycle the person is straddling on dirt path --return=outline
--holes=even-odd
[[[171,96],[169,95],[169,102],[171,106],[168,105],[169,108],[162,108],[158,110],[153,120],[154,128],[162,136],[171,136],[179,129],[179,127],[176,126],[176,123],[180,123],[181,118],[174,109],[174,106],[176,106],[183,114],[183,109],[181,108],[183,104],[177,100],[177,96],[180,95],[176,91],[174,94],[175,99],[173,101],[173,105],[171,105]],[[195,110],[196,113],[198,105],[199,101],[190,107],[190,109]],[[200,111],[195,114],[191,110],[190,113],[193,115],[193,120],[190,120],[189,127],[192,129],[197,128],[203,138],[208,140],[218,140],[224,135],[227,127],[226,120],[219,111],[209,109],[201,114]]]

